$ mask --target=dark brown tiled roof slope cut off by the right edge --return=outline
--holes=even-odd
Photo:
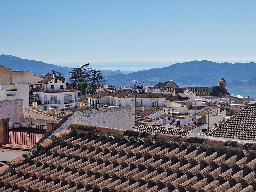
[[[240,140],[256,140],[256,105],[238,111],[236,115],[210,130],[206,135]]]

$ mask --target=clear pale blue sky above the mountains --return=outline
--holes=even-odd
[[[0,1],[0,54],[44,62],[256,61],[256,1]]]

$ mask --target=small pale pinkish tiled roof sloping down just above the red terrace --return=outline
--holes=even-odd
[[[54,121],[54,122],[61,121],[60,118],[53,117],[51,115],[47,115],[45,113],[41,113],[25,107],[23,108],[23,114],[24,114],[24,118],[27,118],[27,119],[38,119],[38,120],[46,120],[46,121]]]

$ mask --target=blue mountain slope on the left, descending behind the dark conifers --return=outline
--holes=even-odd
[[[0,65],[11,68],[12,70],[32,71],[35,75],[44,75],[51,70],[55,70],[67,76],[71,71],[71,68],[68,67],[52,65],[42,61],[21,59],[12,55],[0,55]]]

